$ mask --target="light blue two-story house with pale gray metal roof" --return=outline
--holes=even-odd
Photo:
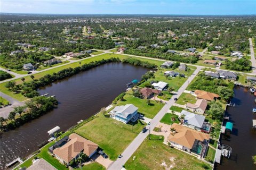
[[[109,113],[111,118],[123,123],[135,122],[138,119],[138,107],[135,107],[133,104],[116,106]]]

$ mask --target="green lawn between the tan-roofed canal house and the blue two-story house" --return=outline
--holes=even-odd
[[[133,127],[98,114],[92,121],[75,130],[82,137],[99,145],[111,160],[117,159],[124,149],[137,137],[145,123],[138,122]]]

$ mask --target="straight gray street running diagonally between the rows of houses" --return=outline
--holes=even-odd
[[[131,142],[131,144],[124,150],[122,153],[122,158],[117,158],[117,160],[110,165],[108,168],[109,170],[119,170],[123,167],[123,165],[127,162],[127,160],[132,156],[132,154],[139,148],[141,143],[146,139],[146,137],[149,134],[149,131],[153,130],[155,126],[160,122],[162,117],[165,115],[165,113],[170,109],[170,107],[175,103],[174,98],[179,98],[180,95],[186,88],[188,87],[188,84],[196,77],[197,73],[202,69],[203,67],[197,66],[197,69],[195,72],[188,78],[188,80],[180,87],[180,89],[177,91],[177,94],[174,95],[169,101],[167,101],[167,104],[164,105],[164,107],[157,113],[157,115],[153,118],[150,124],[146,126],[148,129],[145,133],[139,133],[139,135]]]

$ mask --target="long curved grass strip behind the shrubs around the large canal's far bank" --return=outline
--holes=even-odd
[[[124,58],[129,58],[130,56],[119,55],[119,54],[102,54],[102,55],[91,57],[91,58],[85,58],[82,61],[77,61],[75,63],[70,63],[70,64],[67,64],[67,65],[63,65],[63,66],[60,66],[60,67],[57,67],[57,68],[54,68],[54,69],[51,69],[51,70],[43,71],[41,73],[36,73],[36,74],[33,74],[33,75],[34,75],[35,79],[39,79],[39,78],[43,77],[46,74],[52,74],[54,72],[57,73],[58,71],[63,70],[63,69],[67,69],[69,67],[72,67],[72,68],[77,67],[77,66],[79,66],[79,62],[81,62],[81,65],[83,65],[83,64],[86,64],[86,63],[90,63],[92,61],[99,61],[99,60],[102,60],[103,58],[108,59],[108,58],[111,58],[111,57],[119,57],[120,60],[123,60]],[[134,57],[134,58],[137,58],[137,57]],[[139,59],[141,61],[147,61],[147,62],[150,62],[150,63],[155,63],[158,66],[160,66],[162,63],[164,63],[164,62],[161,62],[161,61],[155,61],[155,60],[150,60],[150,59],[145,59],[145,58],[137,58],[137,59]],[[31,80],[32,79],[30,78],[30,75],[25,77],[25,82],[29,82]],[[22,83],[22,81],[20,79],[15,79],[15,80],[12,80],[12,81],[15,81],[17,84]],[[13,92],[6,89],[5,88],[6,83],[7,82],[4,82],[4,83],[0,84],[1,92],[19,100],[19,101],[23,101],[23,100],[28,99],[28,98],[24,97],[21,94],[14,94]]]

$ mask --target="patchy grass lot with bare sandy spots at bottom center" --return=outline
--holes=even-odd
[[[127,170],[143,169],[204,169],[203,162],[196,157],[186,154],[175,148],[170,148],[159,140],[159,136],[150,135],[143,141],[130,159],[125,163]],[[207,165],[207,164],[206,164]],[[210,165],[209,166],[210,169]]]

